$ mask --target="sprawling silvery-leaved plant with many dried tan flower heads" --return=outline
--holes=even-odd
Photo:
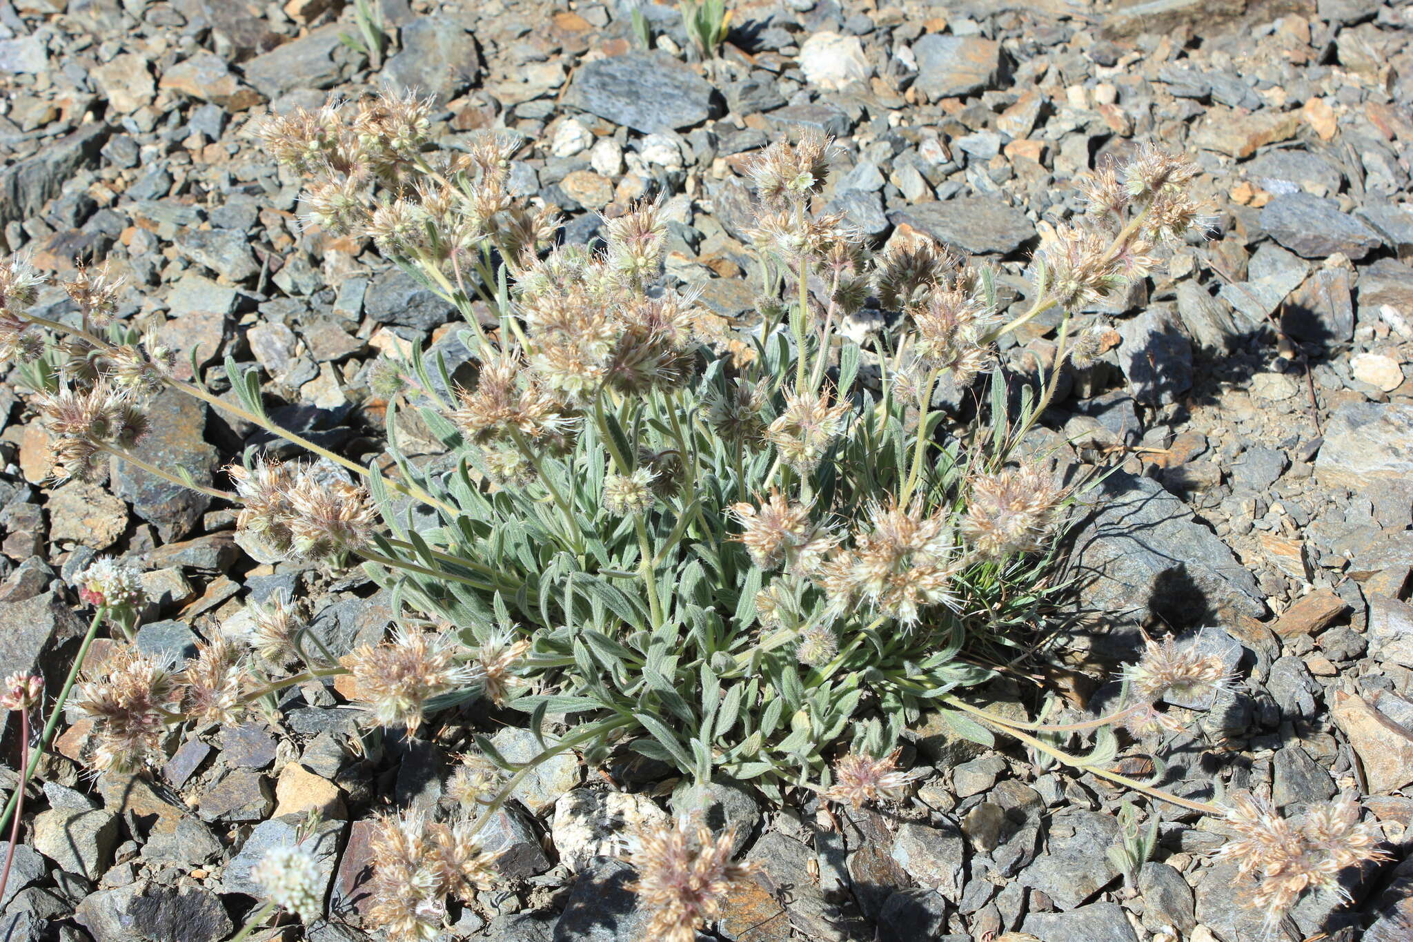
[[[212,391],[218,377],[178,378],[168,352],[113,321],[105,273],[71,285],[75,325],[30,311],[40,280],[23,261],[0,267],[0,353],[27,364],[58,438],[57,475],[85,477],[116,456],[199,487],[240,507],[237,527],[271,552],[333,568],[362,561],[398,623],[389,641],[333,652],[295,600],[277,596],[182,671],[120,644],[78,693],[95,765],[140,768],[181,723],[274,709],[281,688],[335,675],[350,675],[341,689],[369,726],[407,736],[476,696],[536,729],[564,717],[568,729],[527,763],[480,739],[454,777],[454,821],[380,822],[372,915],[393,939],[437,935],[447,898],[472,898],[489,878],[478,829],[554,754],[599,764],[627,749],[697,784],[726,774],[777,801],[807,789],[861,806],[897,799],[916,780],[897,768],[897,743],[924,708],[961,736],[989,743],[1002,732],[1037,758],[1224,818],[1253,847],[1272,843],[1286,825],[1263,805],[1224,809],[1112,768],[1115,727],[1160,736],[1177,723],[1166,693],[1231,682],[1210,655],[1150,643],[1125,675],[1129,700],[1096,720],[1023,723],[958,696],[993,675],[983,665],[1006,645],[1033,637],[1058,590],[1051,561],[1084,482],[1061,483],[1027,435],[1065,364],[1102,353],[1096,333],[1070,338],[1071,311],[1123,290],[1164,244],[1200,230],[1184,188],[1191,164],[1142,147],[1082,178],[1087,212],[1044,227],[1027,302],[1009,311],[989,267],[924,237],[875,253],[845,216],[817,213],[838,148],[815,134],[777,141],[750,171],[757,316],[736,319],[664,282],[661,203],[606,216],[598,247],[551,246],[554,213],[509,186],[521,143],[487,133],[438,153],[430,114],[424,102],[380,96],[259,129],[309,178],[309,226],[372,239],[465,318],[455,333],[472,354],[465,384],[415,349],[373,371],[374,394],[387,397],[386,476],[280,428],[259,378],[235,360],[223,380],[237,404]],[[996,340],[1053,308],[1050,376],[1012,397]],[[935,408],[944,378],[969,390],[982,376],[991,394],[975,421]],[[247,456],[227,469],[230,491],[147,463],[133,452],[143,403],[164,388],[312,460]],[[404,458],[408,412],[448,460],[418,469]],[[89,640],[106,621],[130,640],[136,575],[102,564],[81,582],[97,609]],[[1067,751],[1087,730],[1098,732],[1095,749]],[[1311,869],[1378,857],[1354,805],[1318,813],[1300,832]],[[637,886],[661,938],[692,938],[718,912],[745,874],[729,846],[687,822],[644,840]],[[1275,912],[1307,886],[1330,886],[1294,880],[1294,864],[1273,854],[1243,859],[1259,880],[1253,905]],[[305,918],[307,863],[291,852],[263,877],[274,904]]]

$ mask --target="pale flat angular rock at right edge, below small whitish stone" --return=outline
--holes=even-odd
[[[1354,403],[1325,422],[1320,480],[1361,490],[1371,479],[1413,479],[1413,405]]]

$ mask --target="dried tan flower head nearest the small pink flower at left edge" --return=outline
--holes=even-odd
[[[90,763],[131,773],[160,754],[167,709],[177,696],[171,674],[133,647],[119,648],[78,688],[76,706],[96,722]]]

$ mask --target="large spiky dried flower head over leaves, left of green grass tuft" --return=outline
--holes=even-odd
[[[914,501],[907,508],[876,506],[869,517],[868,528],[855,534],[855,548],[821,566],[818,580],[829,609],[842,614],[862,602],[911,627],[926,606],[955,607],[951,589],[959,561],[942,511],[924,517]]]

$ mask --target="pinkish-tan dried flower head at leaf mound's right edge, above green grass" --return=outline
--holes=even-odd
[[[975,475],[962,537],[981,556],[1039,552],[1054,528],[1064,493],[1033,463]]]

